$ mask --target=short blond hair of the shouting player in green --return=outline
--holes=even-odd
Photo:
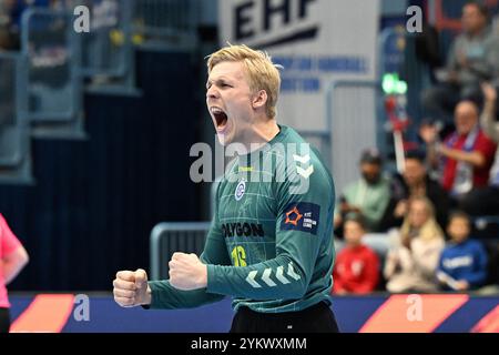
[[[276,116],[276,104],[279,95],[281,74],[272,62],[271,55],[264,51],[253,50],[245,44],[222,48],[207,57],[208,74],[221,62],[241,62],[253,92],[265,90],[267,93],[266,113],[271,119]]]

